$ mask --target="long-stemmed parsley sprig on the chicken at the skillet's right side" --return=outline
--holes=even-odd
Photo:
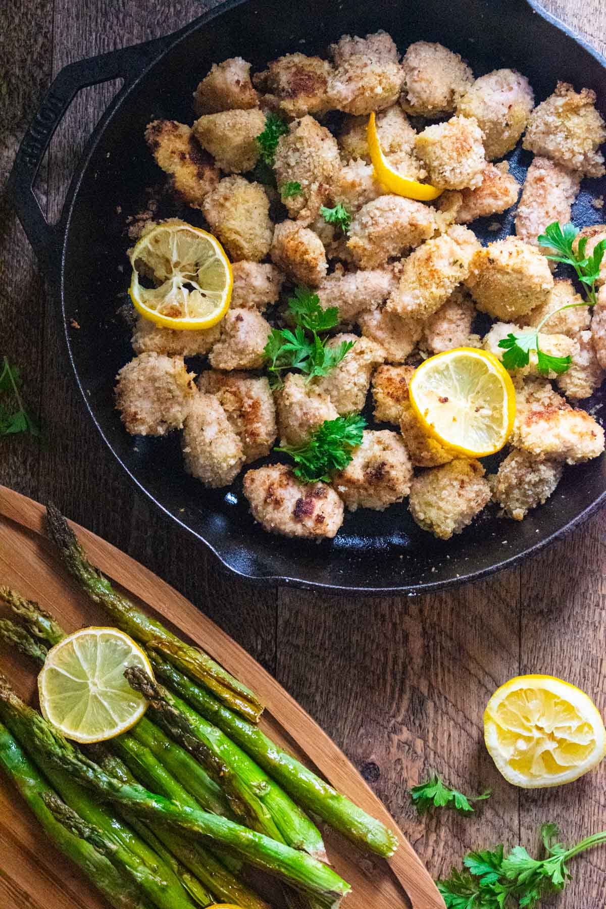
[[[502,359],[505,369],[519,369],[521,366],[527,366],[530,363],[532,350],[536,351],[537,369],[541,375],[549,375],[551,371],[558,374],[565,373],[570,369],[572,362],[570,356],[551,356],[541,351],[539,332],[547,320],[551,319],[552,315],[560,313],[562,309],[571,309],[573,306],[581,305],[592,306],[597,303],[595,282],[600,277],[600,265],[606,250],[606,240],[597,243],[591,255],[585,255],[588,237],[582,236],[577,248],[574,249],[574,241],[578,235],[578,227],[571,224],[561,227],[557,221],[554,221],[537,239],[541,246],[547,246],[556,254],[548,255],[548,259],[552,259],[553,262],[561,262],[563,265],[571,265],[574,268],[585,291],[584,303],[569,303],[560,306],[559,309],[555,309],[541,319],[539,325],[530,332],[510,332],[499,342],[499,346],[505,351]]]

